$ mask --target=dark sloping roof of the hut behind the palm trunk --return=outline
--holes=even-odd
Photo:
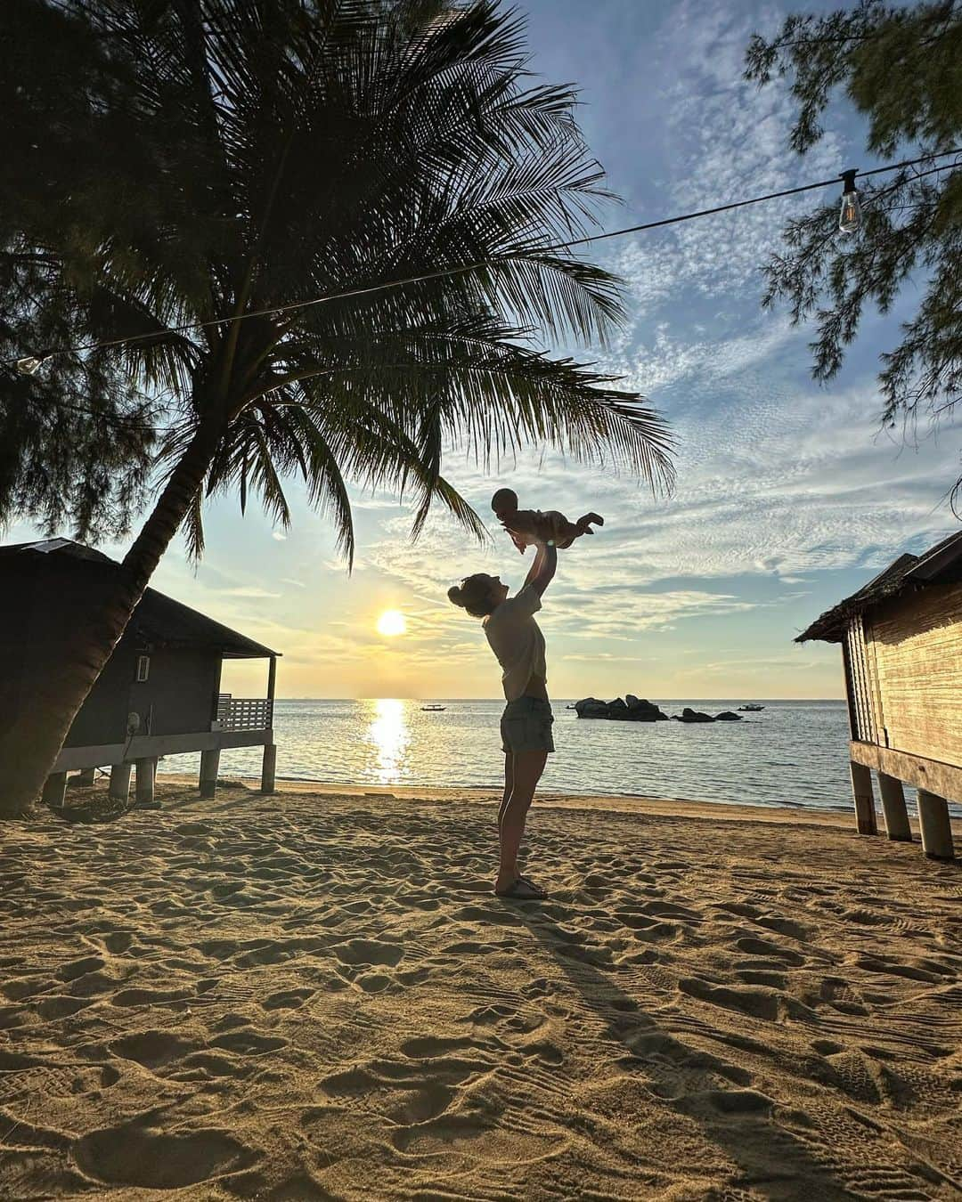
[[[70,538],[46,538],[38,542],[20,542],[0,547],[0,558],[2,559],[26,554],[57,555],[58,558],[118,566],[115,559]],[[256,643],[247,635],[231,630],[230,626],[214,621],[213,618],[208,618],[198,609],[191,609],[189,606],[174,601],[173,597],[158,593],[156,589],[144,591],[141,603],[133,611],[127,624],[126,633],[137,635],[147,642],[215,648],[227,659],[256,660],[280,654],[269,647]]]

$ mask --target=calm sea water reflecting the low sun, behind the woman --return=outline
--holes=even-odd
[[[715,714],[740,701],[665,701]],[[424,704],[443,712],[426,713]],[[841,701],[766,701],[741,722],[578,719],[553,700],[557,754],[541,789],[560,793],[678,797],[738,805],[847,809],[848,716]],[[278,775],[329,784],[493,787],[503,779],[500,701],[278,701]],[[257,748],[225,751],[222,775],[260,774]],[[161,770],[197,767],[168,756]],[[908,793],[908,791],[907,791]],[[914,801],[914,796],[911,797]]]

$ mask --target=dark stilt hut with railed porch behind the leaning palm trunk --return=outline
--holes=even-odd
[[[117,570],[107,555],[67,538],[0,547],[5,725],[16,730],[41,677],[47,684],[70,648],[77,615],[109,589]],[[222,664],[237,659],[267,660],[263,697],[221,692]],[[136,768],[137,805],[156,808],[158,757],[186,751],[201,752],[200,790],[213,797],[220,752],[242,746],[263,748],[261,789],[273,792],[277,661],[269,647],[147,589],[70,727],[44,801],[63,808],[69,773],[93,784],[95,769],[109,767],[111,797],[125,802]]]

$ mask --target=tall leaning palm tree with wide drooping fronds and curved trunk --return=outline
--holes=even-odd
[[[168,424],[156,504],[111,595],[78,618],[55,689],[0,736],[8,810],[42,785],[178,529],[201,553],[204,496],[237,489],[243,508],[253,490],[286,524],[281,481],[298,474],[350,560],[351,480],[412,494],[415,534],[437,500],[482,535],[441,475],[451,441],[481,462],[535,444],[653,484],[671,474],[642,398],[534,343],[604,343],[622,305],[617,279],[557,248],[607,194],[574,93],[527,75],[513,14],[489,0],[60,7],[126,58],[126,119],[156,182],[123,237],[40,249],[87,338],[127,339],[77,352],[78,369],[119,365]]]

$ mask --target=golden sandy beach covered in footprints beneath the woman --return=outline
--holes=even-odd
[[[2,831],[0,1197],[949,1200],[962,869],[849,815],[166,781]]]

